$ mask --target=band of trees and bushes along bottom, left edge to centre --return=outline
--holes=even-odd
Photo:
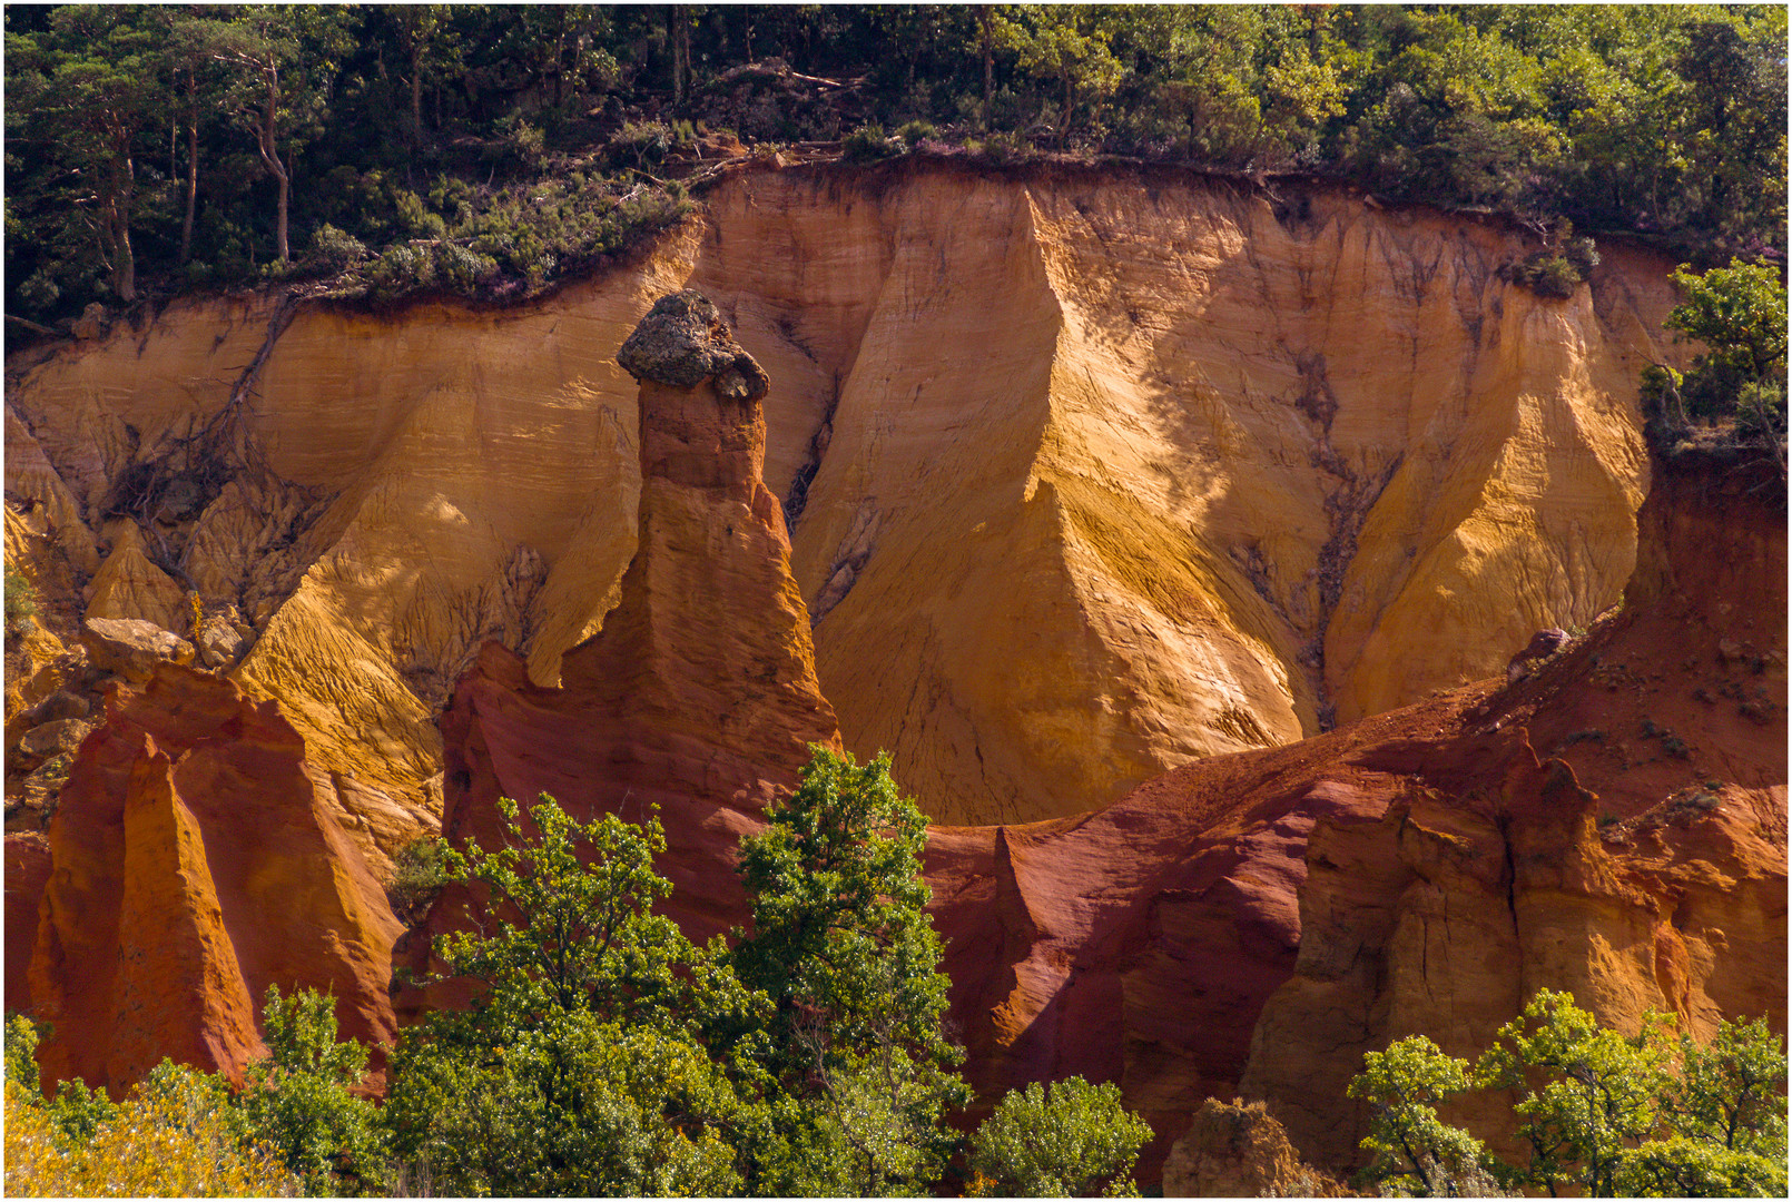
[[[14,1017],[7,1188],[876,1197],[962,1172],[946,1120],[969,1089],[943,1025],[926,826],[887,756],[815,749],[742,840],[751,928],[706,948],[654,912],[670,892],[658,819],[577,824],[548,797],[500,810],[500,847],[421,856],[439,863],[437,905],[466,919],[437,937],[441,980],[473,992],[401,1032],[383,1105],[351,1093],[367,1052],[337,1041],[335,1001],[310,991],[269,992],[271,1055],[244,1089],[165,1062],[122,1107],[79,1082],[38,1096],[36,1034]],[[188,1121],[170,1134],[176,1103]],[[1034,1086],[971,1136],[971,1184],[1136,1193],[1149,1138],[1113,1086]],[[172,1161],[122,1168],[133,1155]]]

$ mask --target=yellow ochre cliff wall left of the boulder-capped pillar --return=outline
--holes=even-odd
[[[7,493],[79,546],[88,527],[70,514],[102,530],[133,462],[202,482],[197,512],[147,521],[151,537],[208,605],[253,627],[233,675],[281,702],[383,867],[439,826],[434,708],[478,645],[532,652],[552,679],[615,602],[638,475],[633,387],[613,356],[661,290],[649,265],[586,287],[575,312],[287,313],[222,471],[186,444],[231,425],[280,305],[179,305],[18,369]],[[95,591],[88,607],[118,597]]]

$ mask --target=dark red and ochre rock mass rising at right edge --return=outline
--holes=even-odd
[[[1787,1023],[1787,561],[1772,469],[1658,464],[1625,609],[1464,724],[1367,761],[1419,788],[1322,819],[1294,978],[1240,1089],[1346,1166],[1362,1053],[1426,1034],[1473,1057],[1538,989],[1636,1030]],[[1362,758],[1358,763],[1366,763]],[[1511,1141],[1511,1112],[1471,1120]],[[1503,1123],[1503,1127],[1502,1127]]]

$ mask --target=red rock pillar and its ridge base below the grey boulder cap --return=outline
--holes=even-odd
[[[702,310],[715,344],[751,365],[713,308]],[[659,315],[656,306],[643,330]],[[674,373],[654,364],[633,369],[643,371],[640,527],[620,602],[602,632],[566,652],[557,688],[534,684],[514,652],[486,645],[443,715],[443,829],[498,846],[498,797],[548,794],[579,822],[602,813],[642,822],[658,808],[672,910],[686,933],[708,939],[745,919],[733,872],[740,837],[796,786],[810,745],[839,747],[839,731],[815,681],[783,514],[760,475],[763,374],[735,387],[738,373],[668,383]],[[466,905],[466,890],[444,892],[407,935],[400,955],[419,974],[430,935],[459,924]],[[398,1005],[455,996],[450,982],[409,989]]]

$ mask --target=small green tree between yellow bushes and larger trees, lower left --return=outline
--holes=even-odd
[[[262,1007],[269,1055],[246,1071],[237,1098],[249,1139],[274,1150],[306,1195],[357,1195],[380,1182],[385,1163],[378,1111],[349,1093],[367,1071],[367,1050],[337,1043],[335,998],[269,985]]]

